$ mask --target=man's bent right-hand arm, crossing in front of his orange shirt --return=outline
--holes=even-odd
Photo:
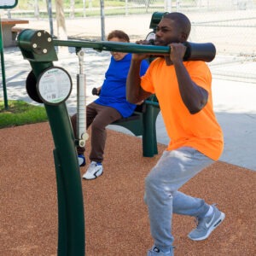
[[[171,44],[170,59],[177,75],[177,83],[180,94],[189,113],[198,113],[207,104],[208,92],[195,84],[183,65],[185,46],[183,44]]]

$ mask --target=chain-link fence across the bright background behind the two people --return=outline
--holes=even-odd
[[[17,7],[6,15],[48,19],[45,2],[29,0],[26,9]],[[55,1],[50,2],[55,19]],[[152,15],[155,11],[183,12],[192,22],[189,41],[212,42],[216,46],[217,57],[209,63],[215,77],[256,83],[256,0],[71,0],[63,3],[67,19],[102,20],[114,16],[118,23],[124,16],[134,20],[138,15]]]

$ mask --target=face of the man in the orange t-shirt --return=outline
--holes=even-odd
[[[155,45],[166,46],[183,41],[182,32],[173,20],[166,18],[160,20],[160,23],[156,26]]]

